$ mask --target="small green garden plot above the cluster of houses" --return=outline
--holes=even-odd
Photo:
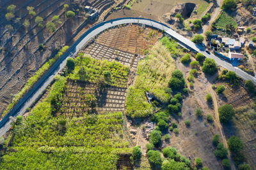
[[[228,24],[232,24],[235,27],[237,27],[236,20],[234,20],[234,18],[228,15],[228,13],[226,13],[225,11],[222,11],[219,17],[214,22],[214,25],[216,25],[216,27],[219,27],[221,29],[226,29],[226,26]]]

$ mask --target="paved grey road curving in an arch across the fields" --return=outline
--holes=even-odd
[[[174,39],[177,39],[179,43],[183,46],[187,46],[189,49],[195,50],[196,52],[203,53],[205,57],[214,59],[218,65],[225,67],[230,71],[235,71],[236,74],[244,80],[252,80],[253,83],[256,84],[256,78],[254,78],[253,76],[245,73],[237,67],[233,67],[230,63],[226,62],[225,60],[219,59],[212,53],[208,54],[204,50],[200,50],[200,46],[196,46],[195,43],[191,42],[189,39],[184,38],[184,36],[181,36],[177,32],[173,31],[167,25],[146,18],[117,18],[115,20],[100,22],[99,24],[94,25],[88,31],[84,32],[84,34],[79,39],[77,39],[77,41],[72,46],[70,46],[68,51],[65,52],[65,54],[63,54],[63,56],[61,56],[61,58],[53,64],[53,66],[44,74],[44,76],[42,76],[42,78],[40,78],[40,80],[36,82],[36,84],[31,88],[31,90],[29,90],[29,92],[24,97],[22,97],[22,99],[20,99],[19,103],[17,103],[13,107],[13,109],[0,121],[0,136],[3,136],[3,134],[5,134],[11,127],[9,117],[17,117],[18,115],[23,115],[25,113],[26,108],[31,106],[33,101],[40,97],[40,94],[42,94],[47,85],[51,83],[51,81],[54,79],[54,76],[58,74],[58,72],[61,71],[61,69],[63,69],[68,57],[73,57],[74,55],[76,55],[76,53],[79,52],[79,50],[88,41],[90,41],[100,32],[108,29],[109,27],[129,23],[145,24],[156,29],[164,30],[167,34],[170,34],[170,36],[172,36]]]

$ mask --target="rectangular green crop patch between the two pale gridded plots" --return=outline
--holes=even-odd
[[[70,62],[67,62],[67,67],[68,72],[72,72],[72,74],[68,75],[68,78],[71,80],[104,83],[100,82],[103,79],[106,81],[105,85],[111,85],[115,87],[126,87],[127,85],[129,67],[124,66],[119,62],[97,60],[92,59],[90,55],[82,55],[78,56],[74,62],[72,62],[72,59],[70,59]]]

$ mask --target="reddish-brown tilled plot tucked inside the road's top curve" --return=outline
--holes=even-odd
[[[147,54],[161,36],[160,31],[149,27],[118,25],[102,32],[97,37],[96,43],[125,52]]]

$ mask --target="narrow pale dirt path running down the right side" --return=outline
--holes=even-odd
[[[220,129],[220,136],[222,138],[223,145],[225,146],[225,148],[228,148],[227,139],[225,137],[222,125],[220,123],[220,118],[219,118],[219,113],[218,113],[218,102],[217,102],[215,93],[214,93],[214,91],[212,90],[212,87],[211,87],[211,82],[212,82],[212,80],[214,80],[215,77],[216,76],[214,75],[214,76],[212,76],[212,78],[209,79],[208,89],[211,92],[212,101],[213,101],[213,104],[214,104],[214,113],[215,113],[215,118],[216,118],[216,126],[218,127],[218,129]],[[235,166],[235,164],[234,164],[234,162],[231,158],[231,153],[230,153],[229,150],[228,150],[228,160],[230,161],[231,169],[236,169],[236,166]]]

